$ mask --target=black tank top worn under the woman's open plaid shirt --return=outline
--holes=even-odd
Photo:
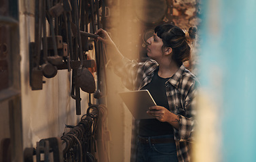
[[[151,96],[156,101],[156,105],[169,109],[165,83],[170,78],[161,78],[158,76],[158,70],[155,71],[153,78],[149,84],[144,86],[143,90],[149,90]],[[173,128],[167,122],[159,121],[158,119],[141,119],[139,122],[140,136],[162,136],[173,134]]]

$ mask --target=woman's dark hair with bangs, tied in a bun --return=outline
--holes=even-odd
[[[172,24],[156,26],[155,33],[158,37],[162,38],[164,47],[172,48],[172,59],[178,65],[190,59],[190,47],[188,43],[196,38],[195,27],[189,28],[188,36],[186,36],[181,28]]]

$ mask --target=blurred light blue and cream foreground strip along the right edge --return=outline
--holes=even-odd
[[[255,7],[203,1],[195,161],[256,161]]]

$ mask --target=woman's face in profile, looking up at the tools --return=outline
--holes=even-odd
[[[152,59],[160,59],[163,56],[162,46],[164,45],[162,38],[159,38],[156,33],[147,39],[147,56]]]

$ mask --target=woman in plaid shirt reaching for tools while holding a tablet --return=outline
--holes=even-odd
[[[105,43],[115,73],[126,87],[149,90],[157,104],[147,111],[154,119],[136,122],[136,161],[190,161],[197,81],[183,61],[190,57],[188,42],[195,38],[195,28],[189,28],[189,34],[185,34],[172,24],[157,26],[147,40],[147,55],[151,59],[144,63],[124,57],[105,30],[96,34]]]

